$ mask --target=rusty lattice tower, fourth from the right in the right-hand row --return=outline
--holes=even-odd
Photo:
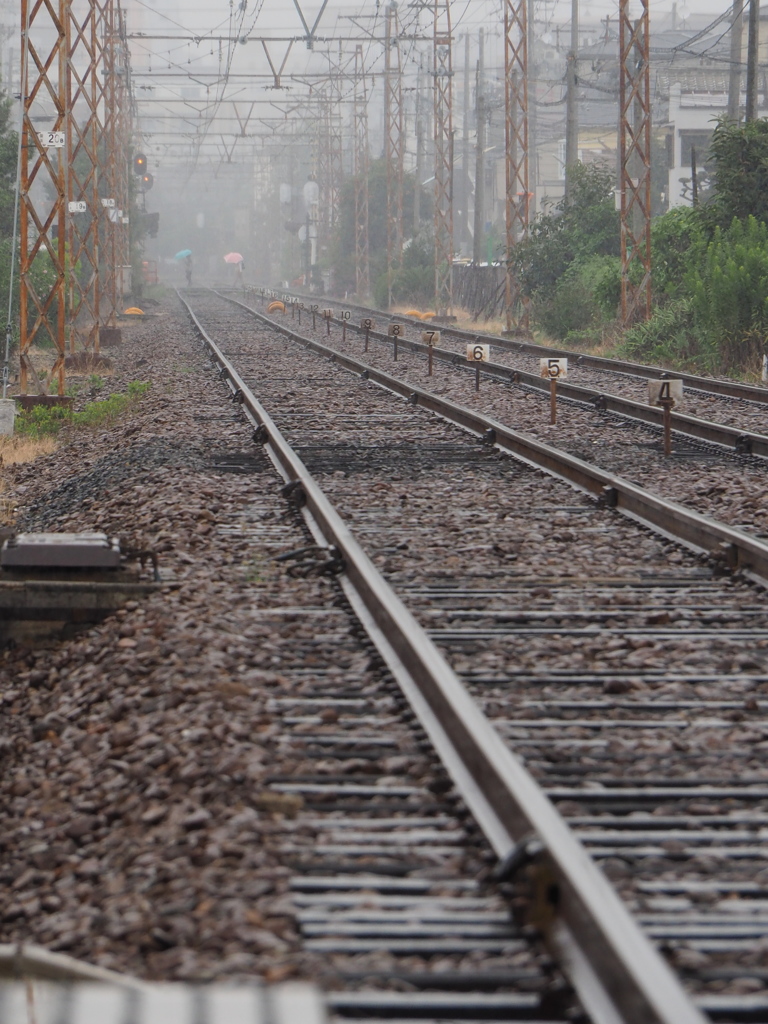
[[[402,262],[402,183],[406,148],[397,4],[386,9],[384,33],[384,163],[387,183],[387,302],[392,274]]]

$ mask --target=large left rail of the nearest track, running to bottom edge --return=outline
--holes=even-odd
[[[343,559],[341,579],[353,608],[494,848],[500,866],[509,873],[527,866],[530,922],[592,1020],[595,1024],[703,1024],[705,1018],[679,980],[553,804],[379,573],[188,303],[184,305],[232,397],[257,427],[256,436],[261,435],[284,478],[301,487],[315,529]],[[254,312],[243,303],[237,305]],[[282,333],[302,340],[285,329]],[[361,366],[342,360],[316,343],[310,347],[349,369]],[[386,375],[371,372],[370,376],[383,380]]]

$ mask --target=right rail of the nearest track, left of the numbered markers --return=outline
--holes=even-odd
[[[219,293],[216,293],[219,294]],[[710,519],[699,512],[687,509],[677,502],[644,490],[631,480],[601,469],[575,456],[534,440],[507,424],[484,413],[460,406],[447,398],[398,380],[375,367],[351,356],[343,355],[321,342],[305,338],[289,328],[275,323],[258,310],[230,296],[220,298],[231,302],[305,347],[333,359],[354,373],[365,374],[369,380],[387,390],[419,404],[444,419],[464,427],[493,442],[517,459],[531,466],[547,470],[567,480],[582,490],[602,499],[610,508],[624,512],[643,525],[660,530],[667,537],[687,545],[698,554],[712,555],[722,560],[728,568],[741,570],[764,587],[768,587],[768,544],[735,526]],[[399,340],[398,340],[399,344]]]

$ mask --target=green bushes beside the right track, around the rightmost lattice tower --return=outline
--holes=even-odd
[[[651,224],[652,315],[622,332],[620,221],[608,168],[579,165],[567,201],[510,255],[535,329],[574,347],[754,376],[768,337],[768,120],[718,120],[709,185]]]

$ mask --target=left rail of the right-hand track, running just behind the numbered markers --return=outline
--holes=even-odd
[[[395,317],[399,319],[399,317]],[[334,317],[336,321],[336,317]],[[340,324],[343,322],[339,322]],[[421,324],[422,329],[424,324]],[[362,333],[362,328],[357,324],[347,324],[347,330]],[[392,339],[380,331],[369,331],[369,337],[378,342],[391,344]],[[473,341],[478,341],[478,335],[472,335]],[[413,341],[409,338],[398,338],[397,344],[409,351],[426,355],[429,346],[420,341]],[[433,358],[441,359],[453,365],[461,365],[465,361],[464,356],[450,349],[432,346]],[[470,364],[467,364],[470,366]],[[501,362],[473,364],[479,366],[480,373],[488,377],[511,381],[514,384],[524,384],[527,387],[536,388],[538,391],[549,394],[550,382],[544,380],[537,374],[528,373],[524,370],[516,370],[504,366]],[[623,398],[621,395],[612,395],[604,391],[596,391],[592,388],[584,387],[580,384],[569,384],[567,381],[557,382],[558,396],[569,398],[571,401],[583,402],[592,406],[600,412],[614,413],[627,419],[640,420],[642,423],[650,423],[659,429],[664,425],[664,412],[654,406],[646,406],[641,401],[634,401],[632,398]],[[695,437],[697,440],[705,440],[711,444],[722,444],[724,447],[733,449],[735,452],[748,455],[768,458],[768,436],[758,434],[751,430],[739,430],[735,427],[727,427],[722,423],[713,423],[710,420],[701,420],[695,416],[687,416],[684,413],[671,414],[672,429],[676,433],[686,434]]]

